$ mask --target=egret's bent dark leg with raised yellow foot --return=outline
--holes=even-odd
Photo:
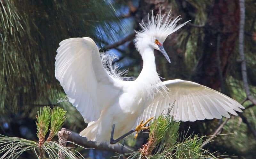
[[[147,127],[143,127],[145,126],[150,120],[154,119],[154,117],[149,118],[145,123],[143,123],[144,120],[141,120],[140,124],[138,126],[136,126],[136,128],[133,128],[132,130],[130,130],[128,133],[125,133],[124,135],[120,136],[119,138],[117,138],[116,140],[114,140],[114,131],[115,131],[115,124],[112,125],[112,130],[111,130],[111,136],[110,136],[110,144],[115,144],[118,141],[122,140],[123,138],[125,138],[126,136],[132,134],[133,132],[137,131],[137,133],[135,134],[134,138],[137,138],[140,130],[145,130],[148,129],[149,126]],[[143,124],[142,124],[143,123]]]

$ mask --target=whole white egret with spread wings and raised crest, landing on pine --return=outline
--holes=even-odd
[[[68,101],[88,123],[81,136],[97,144],[115,143],[120,137],[145,129],[142,120],[167,113],[170,105],[169,113],[175,121],[229,118],[229,113],[242,112],[240,108],[244,107],[235,100],[198,83],[180,79],[161,82],[154,50],[159,50],[171,63],[163,43],[168,35],[187,23],[177,25],[178,21],[178,17],[170,18],[170,12],[156,16],[152,12],[148,22],[140,24],[135,47],[142,57],[143,68],[134,81],[125,81],[116,67],[111,66],[113,57],[100,54],[91,38],[60,42],[55,76]]]

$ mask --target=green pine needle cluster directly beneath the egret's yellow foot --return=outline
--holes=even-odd
[[[208,150],[201,148],[204,137],[190,135],[180,137],[180,122],[173,121],[169,115],[160,115],[150,124],[148,142],[128,158],[209,158],[217,159]],[[186,136],[184,134],[182,136]]]

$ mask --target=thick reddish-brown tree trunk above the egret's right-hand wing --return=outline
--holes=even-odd
[[[223,81],[228,71],[229,61],[234,56],[239,30],[239,1],[216,0],[208,13],[204,27],[202,55],[193,70],[191,80],[218,89],[221,85],[218,62]],[[217,46],[220,36],[220,46]],[[218,61],[217,49],[219,47]],[[225,90],[223,90],[224,93]]]

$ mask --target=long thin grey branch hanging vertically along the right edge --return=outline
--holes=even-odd
[[[246,61],[244,58],[244,21],[245,21],[245,6],[244,0],[240,0],[240,28],[239,28],[239,54],[241,57],[241,70],[244,82],[244,89],[247,98],[256,105],[256,99],[251,95],[249,90],[248,80],[247,80],[247,70],[246,70]]]

